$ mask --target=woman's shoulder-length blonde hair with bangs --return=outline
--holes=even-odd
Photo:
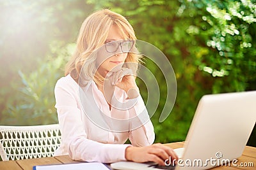
[[[107,9],[92,13],[81,26],[76,51],[65,69],[66,76],[70,74],[78,83],[79,74],[82,73],[84,79],[93,79],[97,85],[102,85],[104,78],[96,71],[97,49],[104,45],[111,25],[116,25],[124,38],[136,40],[131,24],[122,15]],[[129,52],[127,54],[125,62],[136,63],[127,64],[133,73],[136,73],[138,69],[140,58],[141,55],[138,53]],[[134,65],[136,66],[134,67]]]

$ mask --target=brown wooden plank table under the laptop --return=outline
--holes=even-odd
[[[177,143],[167,143],[164,144],[166,146],[170,146],[172,148],[180,148],[184,145],[184,142]],[[239,157],[237,164],[240,162],[252,162],[253,167],[228,167],[228,166],[220,166],[214,167],[214,170],[220,169],[256,169],[256,148],[251,146],[246,146],[243,152],[243,155]],[[70,164],[70,163],[79,163],[79,161],[72,160],[68,155],[58,156],[58,157],[45,157],[38,159],[23,159],[23,160],[9,160],[9,161],[1,161],[0,169],[1,170],[32,170],[33,166],[39,165],[49,165],[49,164]],[[231,165],[231,164],[230,164]]]

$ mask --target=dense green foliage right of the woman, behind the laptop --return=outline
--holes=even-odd
[[[172,63],[178,92],[163,123],[152,118],[156,142],[185,139],[196,104],[204,94],[255,90],[255,3],[251,1],[91,1],[126,16],[137,38],[152,43]],[[101,4],[101,6],[100,6]],[[239,15],[241,14],[241,15]],[[145,61],[156,74],[156,66]],[[140,85],[140,83],[139,83]],[[141,86],[143,88],[143,86]],[[140,89],[142,89],[140,88]],[[160,87],[161,94],[166,93]],[[141,90],[143,91],[143,90]],[[147,94],[142,93],[144,99]],[[168,134],[166,133],[168,129]]]

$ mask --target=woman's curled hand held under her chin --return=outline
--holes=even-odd
[[[120,71],[111,72],[108,75],[111,84],[125,90],[130,99],[139,96],[139,89],[131,69],[122,68]]]

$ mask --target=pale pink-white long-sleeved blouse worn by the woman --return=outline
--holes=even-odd
[[[133,146],[154,143],[154,127],[141,96],[127,99],[115,87],[109,110],[94,81],[82,87],[70,74],[57,81],[54,93],[62,138],[54,155],[110,163],[125,160],[128,138]]]

